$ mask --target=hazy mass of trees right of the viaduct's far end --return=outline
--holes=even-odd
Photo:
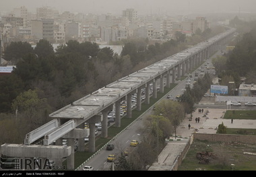
[[[212,60],[220,84],[231,88],[229,82],[234,81],[234,88],[238,88],[241,77],[246,77],[245,83],[256,83],[256,21],[245,22],[234,17],[230,25],[238,31],[236,38],[230,42],[234,49]],[[234,93],[229,90],[229,94]]]

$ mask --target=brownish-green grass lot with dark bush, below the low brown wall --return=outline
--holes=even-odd
[[[209,164],[199,164],[197,153],[206,151],[216,159],[210,159]],[[194,140],[178,170],[256,170],[256,155],[244,152],[256,153],[256,145]]]

